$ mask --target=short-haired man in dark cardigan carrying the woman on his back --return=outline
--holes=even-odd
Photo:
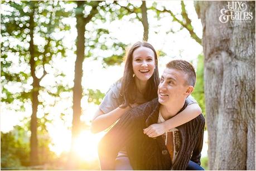
[[[158,99],[127,112],[99,143],[100,166],[113,170],[119,150],[126,146],[134,170],[185,170],[189,161],[200,165],[205,119],[202,114],[168,131],[149,138],[143,129],[160,123],[186,108],[194,90],[194,67],[183,60],[166,65],[158,86]]]

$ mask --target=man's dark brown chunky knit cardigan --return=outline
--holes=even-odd
[[[185,103],[182,111],[187,104]],[[99,143],[99,160],[102,170],[114,170],[115,158],[123,146],[134,170],[185,170],[189,160],[200,165],[205,119],[202,114],[178,126],[181,147],[175,162],[161,136],[149,138],[143,129],[157,123],[160,104],[153,99],[129,110]],[[180,112],[179,111],[179,112]]]

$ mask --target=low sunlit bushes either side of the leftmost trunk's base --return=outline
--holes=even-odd
[[[27,133],[28,124],[15,126],[8,133],[1,132],[1,168],[25,168],[30,164],[30,138]],[[42,128],[39,123],[38,128]],[[49,163],[56,159],[54,152],[49,149],[51,139],[46,129],[38,130],[38,158],[40,164]]]

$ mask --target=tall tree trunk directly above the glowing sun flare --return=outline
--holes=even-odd
[[[73,120],[72,120],[72,137],[71,149],[69,154],[69,161],[67,162],[66,169],[78,169],[78,163],[75,154],[75,140],[80,133],[80,116],[81,116],[81,99],[82,99],[82,85],[81,80],[83,76],[83,61],[85,50],[85,20],[84,20],[84,1],[76,1],[78,7],[76,8],[76,30],[78,37],[76,38],[76,60],[75,60],[75,77],[73,87]]]

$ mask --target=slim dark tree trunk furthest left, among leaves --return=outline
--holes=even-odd
[[[38,94],[39,94],[39,80],[36,77],[35,69],[35,49],[33,44],[33,30],[35,28],[35,22],[33,21],[33,16],[35,13],[35,3],[31,2],[32,4],[32,12],[30,15],[30,71],[33,78],[33,89],[32,89],[32,115],[30,121],[30,130],[31,130],[31,137],[30,137],[30,165],[37,165],[38,164],[38,143],[37,143],[37,107],[38,107]]]

